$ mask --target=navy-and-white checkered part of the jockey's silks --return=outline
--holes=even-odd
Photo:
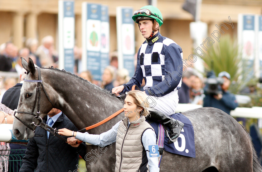
[[[176,44],[173,40],[166,38],[163,42],[156,42],[153,45],[148,45],[147,42],[141,45],[139,52],[139,62],[145,77],[145,87],[150,88],[164,80],[165,77],[165,55],[163,50],[170,44]],[[153,46],[153,48],[152,48]],[[183,53],[180,53],[183,59]],[[177,87],[181,87],[181,81]]]

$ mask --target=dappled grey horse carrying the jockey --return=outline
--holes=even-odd
[[[27,70],[26,80],[38,80],[38,71],[32,59],[27,63],[22,58],[22,65]],[[98,123],[123,107],[123,101],[90,82],[59,69],[40,68],[41,80],[46,94],[41,87],[40,117],[54,107],[63,111],[67,117],[82,129]],[[18,104],[18,111],[31,112],[36,97],[34,82],[24,82]],[[47,98],[50,98],[50,101]],[[37,101],[38,102],[38,101]],[[38,106],[38,105],[36,105]],[[34,114],[36,114],[36,109]],[[183,112],[195,131],[196,158],[163,152],[160,171],[166,172],[261,172],[249,134],[230,115],[216,108],[199,108]],[[32,123],[33,115],[17,113],[16,116],[27,125]],[[110,121],[88,132],[100,134],[112,128],[123,119],[121,113]],[[34,129],[34,125],[30,125]],[[13,133],[17,139],[28,139],[34,132],[14,119]],[[114,171],[115,144],[105,147],[90,145],[86,148],[87,170],[90,172]],[[55,163],[55,162],[54,162]]]

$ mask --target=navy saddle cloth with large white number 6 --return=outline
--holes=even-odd
[[[164,150],[178,155],[195,158],[196,157],[195,136],[194,136],[194,129],[192,123],[187,117],[185,117],[181,113],[172,114],[170,115],[170,117],[184,123],[184,127],[179,137],[177,138],[176,142],[168,144],[167,142],[169,138],[165,134],[164,146],[163,146]],[[158,123],[151,122],[149,120],[147,120],[147,122],[150,123],[150,125],[154,128],[156,136],[158,138]]]

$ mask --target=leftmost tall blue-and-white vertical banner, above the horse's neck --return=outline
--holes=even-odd
[[[58,2],[59,68],[74,73],[75,11],[74,1]]]

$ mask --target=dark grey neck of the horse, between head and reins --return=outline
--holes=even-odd
[[[98,123],[123,107],[120,100],[90,82],[67,73],[54,72],[48,76],[54,92],[51,93],[52,101],[77,128]],[[112,121],[116,123],[119,117]]]

